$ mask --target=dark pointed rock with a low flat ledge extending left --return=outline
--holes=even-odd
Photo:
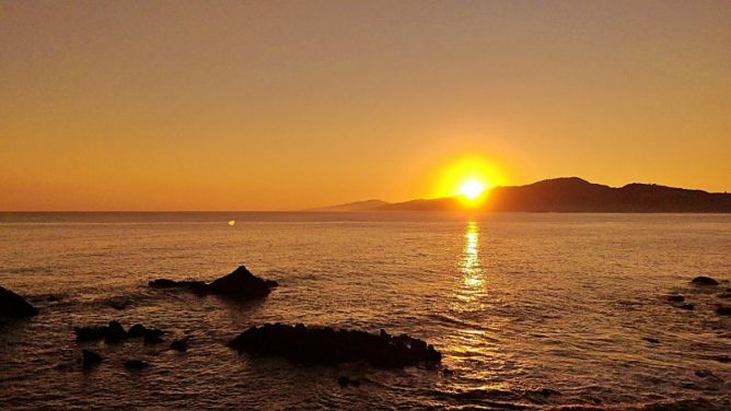
[[[240,266],[233,272],[211,283],[158,279],[150,281],[148,285],[153,289],[187,289],[198,295],[210,293],[237,300],[255,300],[266,297],[278,284],[272,280],[260,279],[252,274],[246,267]]]

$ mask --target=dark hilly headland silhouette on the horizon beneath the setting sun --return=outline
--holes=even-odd
[[[393,203],[369,200],[320,210],[453,211],[463,209],[464,206],[459,197],[449,197]],[[522,212],[729,213],[731,212],[731,193],[637,183],[624,187],[610,187],[589,183],[579,177],[561,177],[525,186],[496,187],[487,193],[485,201],[476,209]]]

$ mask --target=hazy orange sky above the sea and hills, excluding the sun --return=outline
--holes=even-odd
[[[729,1],[0,1],[0,210],[731,190]],[[455,187],[456,189],[456,187]]]

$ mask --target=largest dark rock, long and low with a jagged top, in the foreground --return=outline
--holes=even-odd
[[[407,334],[372,334],[357,330],[265,324],[252,327],[229,342],[241,352],[282,356],[309,364],[335,365],[364,361],[376,367],[401,368],[419,363],[439,363],[441,353]]]

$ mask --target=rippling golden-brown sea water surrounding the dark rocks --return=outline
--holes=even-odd
[[[245,304],[147,286],[240,265],[280,286]],[[0,409],[728,410],[729,280],[731,215],[0,213],[0,285],[40,309],[0,325]],[[112,319],[190,348],[76,342],[73,326]],[[274,321],[407,332],[454,373],[225,347]],[[104,362],[83,371],[82,348]]]

